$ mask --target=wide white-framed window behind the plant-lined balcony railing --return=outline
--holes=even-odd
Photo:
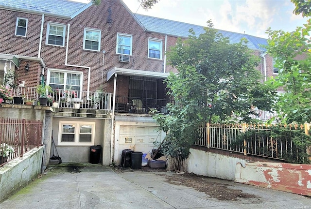
[[[83,73],[78,71],[65,71],[58,69],[49,69],[47,85],[51,86],[53,100],[59,101],[63,98],[65,90],[72,90],[75,100],[81,99]],[[61,97],[61,98],[59,98]]]

